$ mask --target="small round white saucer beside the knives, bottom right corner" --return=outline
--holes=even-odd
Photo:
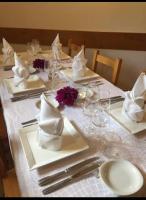
[[[111,160],[99,168],[104,183],[118,195],[131,195],[143,186],[141,172],[127,160]]]

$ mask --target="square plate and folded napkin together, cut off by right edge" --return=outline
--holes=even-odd
[[[130,134],[146,129],[145,79],[145,73],[141,73],[132,90],[124,92],[124,100],[111,106],[111,116]]]

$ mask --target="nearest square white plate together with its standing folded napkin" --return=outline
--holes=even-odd
[[[19,130],[29,169],[36,169],[89,148],[74,125],[41,95],[37,123]],[[33,158],[33,159],[32,159]]]

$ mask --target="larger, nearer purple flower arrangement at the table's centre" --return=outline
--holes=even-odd
[[[78,90],[69,86],[57,91],[56,100],[60,106],[72,106],[78,97]]]

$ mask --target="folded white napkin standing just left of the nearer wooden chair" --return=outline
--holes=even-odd
[[[72,63],[72,72],[74,78],[83,77],[86,71],[87,59],[84,56],[84,46],[80,52],[74,57]]]

